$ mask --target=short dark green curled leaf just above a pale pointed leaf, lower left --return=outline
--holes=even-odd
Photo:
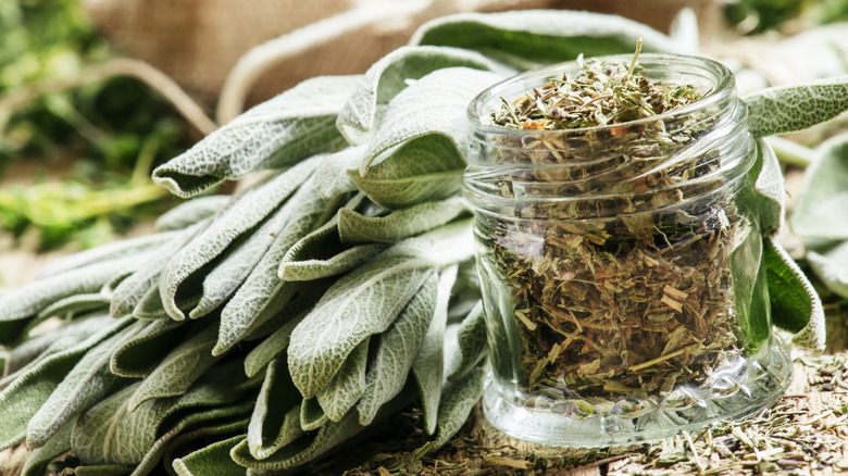
[[[146,377],[178,346],[189,326],[180,321],[151,322],[112,353],[109,368],[122,377]]]

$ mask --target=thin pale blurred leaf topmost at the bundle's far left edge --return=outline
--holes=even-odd
[[[117,260],[151,251],[171,240],[173,236],[174,233],[170,231],[145,235],[137,238],[112,241],[97,248],[68,254],[67,256],[59,258],[46,264],[39,270],[38,278],[43,279],[95,263],[102,263],[104,261]]]

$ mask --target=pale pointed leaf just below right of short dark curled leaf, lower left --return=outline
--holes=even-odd
[[[145,377],[129,399],[128,410],[135,412],[148,400],[185,393],[191,384],[221,360],[211,353],[216,340],[217,329],[214,325],[208,325],[177,346]]]

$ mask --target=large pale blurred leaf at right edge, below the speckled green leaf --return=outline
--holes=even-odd
[[[848,135],[823,142],[818,155],[805,171],[789,224],[805,238],[848,239]]]

